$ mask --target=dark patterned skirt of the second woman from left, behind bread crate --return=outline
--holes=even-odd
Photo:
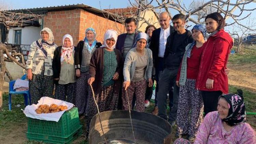
[[[55,89],[55,98],[70,103],[75,101],[75,83],[58,84]]]

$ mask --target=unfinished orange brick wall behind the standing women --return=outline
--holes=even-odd
[[[108,29],[114,29],[118,33],[125,32],[124,25],[82,9],[48,12],[44,17],[44,27],[53,31],[54,42],[58,46],[62,45],[62,37],[65,34],[70,34],[76,45],[84,39],[88,27],[96,30],[96,39],[100,42],[103,42],[104,32]]]

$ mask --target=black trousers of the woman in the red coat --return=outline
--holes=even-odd
[[[201,91],[204,105],[204,116],[209,112],[217,111],[219,96],[222,91]]]

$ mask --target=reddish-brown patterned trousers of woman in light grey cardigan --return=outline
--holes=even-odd
[[[131,81],[130,86],[126,89],[129,97],[130,109],[132,109],[132,99],[133,99],[133,94],[135,92],[136,111],[144,112],[145,110],[144,100],[145,100],[146,87],[147,87],[147,81],[145,79],[138,82]],[[128,98],[126,96],[126,92],[124,88],[122,93],[122,100],[123,100],[123,110],[129,110]]]

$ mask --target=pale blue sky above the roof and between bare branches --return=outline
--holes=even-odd
[[[134,1],[134,0],[132,0]],[[185,4],[187,7],[188,5],[194,0],[183,0],[183,4]],[[208,1],[208,0],[204,0]],[[232,3],[234,3],[236,0],[231,0]],[[39,8],[39,7],[46,7],[46,6],[57,6],[57,5],[69,5],[69,4],[86,4],[89,6],[92,6],[97,9],[113,9],[113,8],[126,8],[127,6],[130,6],[130,3],[128,0],[0,0],[0,5],[8,5],[9,9],[28,9],[28,8]],[[154,3],[153,3],[154,4]],[[253,9],[256,8],[256,3],[250,3],[246,5],[246,9]],[[177,14],[178,12],[176,10],[170,11],[172,15]],[[256,11],[253,11],[255,13]],[[237,12],[235,14],[239,14],[239,10],[237,9]],[[245,15],[246,13],[244,13]],[[255,18],[256,16],[254,14],[251,15],[251,18]],[[244,19],[241,21],[242,24],[246,25],[248,21],[247,19]],[[231,23],[231,19],[226,21],[227,23]],[[193,23],[189,23],[189,25],[194,25]],[[231,29],[230,27],[229,29]]]

